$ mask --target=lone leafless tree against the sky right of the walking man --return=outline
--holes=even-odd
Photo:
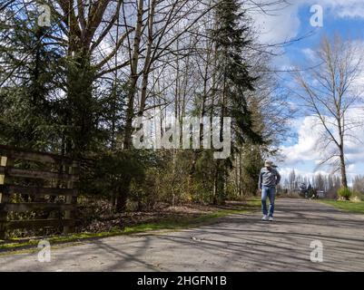
[[[341,184],[347,188],[345,147],[348,141],[357,140],[352,130],[362,126],[362,121],[349,116],[351,108],[362,104],[358,82],[362,57],[355,43],[339,36],[332,41],[323,38],[315,57],[320,65],[306,73],[295,73],[297,93],[320,125],[320,165],[330,164],[334,172],[340,172]]]

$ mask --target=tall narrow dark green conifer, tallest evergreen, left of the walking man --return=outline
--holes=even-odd
[[[243,58],[244,49],[251,43],[246,12],[236,0],[222,0],[215,8],[215,27],[212,39],[216,58],[216,96],[221,118],[220,138],[222,140],[223,118],[231,117],[232,128],[237,143],[241,145],[246,138],[261,142],[261,136],[253,131],[251,111],[245,98],[247,91],[253,91],[255,78],[249,73],[249,65]],[[231,159],[216,160],[214,203],[225,198],[228,170]]]

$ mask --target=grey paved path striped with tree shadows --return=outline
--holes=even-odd
[[[303,199],[279,199],[273,223],[232,215],[179,232],[108,237],[37,254],[0,256],[1,271],[363,271],[364,216]],[[310,261],[310,243],[323,262]]]

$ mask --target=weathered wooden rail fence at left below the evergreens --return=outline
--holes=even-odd
[[[0,145],[0,239],[14,229],[62,227],[74,231],[78,162],[70,158]],[[12,218],[14,213],[55,211],[57,218]],[[10,215],[10,213],[12,215]],[[43,218],[42,218],[43,217]]]

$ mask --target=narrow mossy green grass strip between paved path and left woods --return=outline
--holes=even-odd
[[[153,230],[181,230],[183,228],[202,226],[207,223],[212,223],[218,218],[223,218],[231,214],[248,213],[261,207],[261,200],[257,198],[250,198],[247,204],[239,208],[219,209],[212,213],[203,214],[200,217],[176,217],[176,218],[162,218],[159,221],[151,223],[143,223],[132,227],[124,227],[122,229],[115,229],[109,232],[101,233],[80,233],[66,236],[46,237],[46,240],[51,245],[80,242],[85,239],[101,238],[101,237],[114,237],[131,235]],[[16,251],[22,248],[29,248],[37,246],[41,238],[34,238],[26,241],[13,240],[4,244],[0,244],[0,251]],[[0,253],[1,254],[1,253]]]

